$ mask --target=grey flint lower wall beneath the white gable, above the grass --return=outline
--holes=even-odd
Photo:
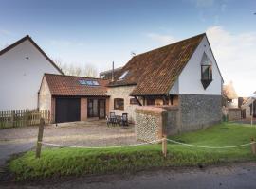
[[[221,122],[221,95],[179,95],[179,131],[202,129]]]

